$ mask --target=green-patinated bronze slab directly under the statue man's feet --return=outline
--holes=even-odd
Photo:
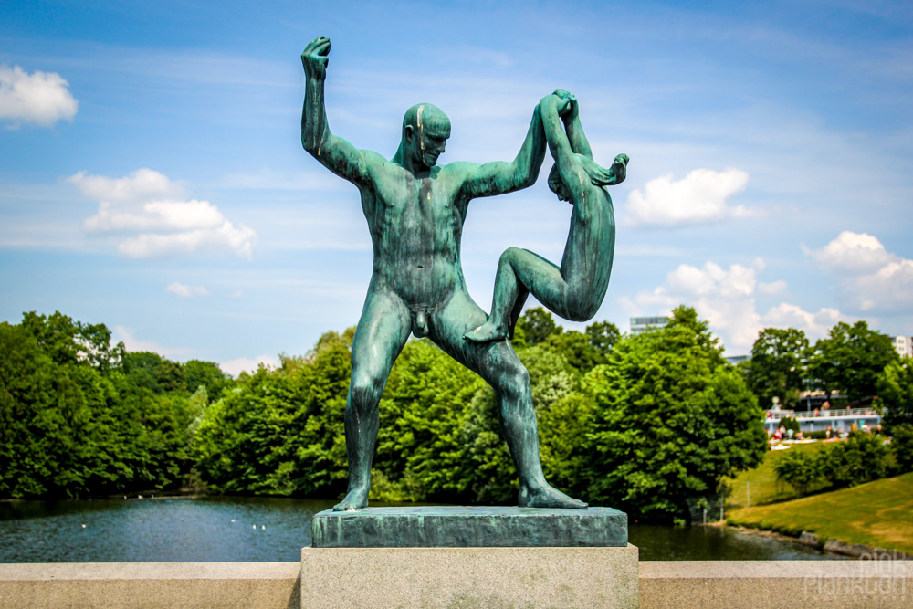
[[[421,506],[327,509],[315,548],[541,548],[627,545],[627,514],[612,508]]]

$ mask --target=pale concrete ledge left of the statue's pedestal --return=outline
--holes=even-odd
[[[0,564],[0,607],[301,606],[298,562]]]

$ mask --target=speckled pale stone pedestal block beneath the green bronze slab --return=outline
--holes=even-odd
[[[305,548],[302,607],[636,607],[624,548]]]

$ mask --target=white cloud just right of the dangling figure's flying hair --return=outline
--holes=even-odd
[[[728,205],[729,196],[745,190],[749,174],[729,168],[722,172],[696,169],[674,182],[672,174],[646,183],[627,200],[624,221],[631,226],[703,224],[729,217],[756,215],[742,205]]]

